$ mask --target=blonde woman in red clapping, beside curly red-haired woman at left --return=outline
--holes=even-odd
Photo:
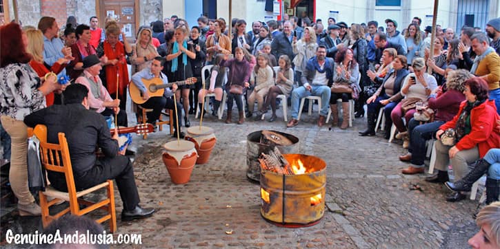
[[[45,80],[46,74],[53,72],[54,74],[59,74],[68,62],[72,59],[71,56],[66,56],[64,58],[59,58],[52,67],[49,69],[43,63],[43,34],[40,30],[29,29],[26,30],[26,36],[28,36],[28,47],[26,47],[26,52],[30,53],[33,58],[30,61],[30,66],[38,74],[41,80]],[[66,87],[63,87],[63,89]],[[63,90],[61,89],[61,91]],[[61,94],[61,92],[58,92]],[[47,106],[54,104],[54,92],[47,94],[45,96],[47,101]]]

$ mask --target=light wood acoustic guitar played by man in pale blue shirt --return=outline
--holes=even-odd
[[[172,83],[163,84],[163,80],[161,78],[152,78],[150,80],[146,80],[145,78],[141,79],[144,87],[146,87],[146,91],[148,91],[148,95],[151,97],[159,97],[163,96],[166,87],[172,87],[172,85],[192,85],[197,82],[197,78],[188,78],[186,80],[176,81]],[[128,91],[130,92],[130,98],[137,105],[141,105],[144,102],[148,101],[143,99],[143,94],[139,90],[139,88],[132,82],[128,84]]]

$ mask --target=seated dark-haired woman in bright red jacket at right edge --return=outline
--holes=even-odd
[[[454,180],[461,180],[468,173],[468,164],[483,158],[493,148],[498,148],[500,135],[495,132],[497,107],[494,100],[488,100],[488,83],[483,78],[466,80],[463,94],[466,101],[461,102],[457,115],[436,132],[437,175],[426,178],[428,182],[448,182],[448,165],[451,164]],[[454,129],[454,144],[443,144],[441,135],[447,129]],[[455,192],[446,197],[448,202],[458,202],[466,196]]]

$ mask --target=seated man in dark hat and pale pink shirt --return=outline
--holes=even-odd
[[[127,127],[127,113],[120,110],[120,100],[112,99],[106,87],[103,86],[99,72],[102,66],[99,57],[91,54],[83,59],[83,75],[75,80],[88,89],[88,105],[92,111],[101,113],[103,116],[114,116],[117,113],[117,125]]]

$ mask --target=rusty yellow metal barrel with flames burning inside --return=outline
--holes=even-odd
[[[277,226],[317,224],[325,211],[326,163],[312,155],[283,156],[290,164],[300,158],[306,169],[312,168],[314,171],[300,175],[262,171],[261,215]]]

